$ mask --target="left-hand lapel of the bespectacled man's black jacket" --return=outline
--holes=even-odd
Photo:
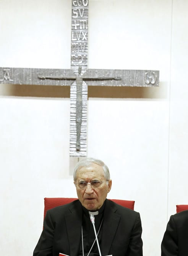
[[[65,222],[70,243],[70,255],[77,256],[81,242],[82,205],[79,201],[69,208],[70,214],[65,216]]]

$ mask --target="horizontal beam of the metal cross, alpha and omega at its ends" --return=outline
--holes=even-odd
[[[78,77],[95,86],[159,86],[159,71],[153,70],[88,69],[76,75],[70,69],[0,67],[0,84],[70,86]]]

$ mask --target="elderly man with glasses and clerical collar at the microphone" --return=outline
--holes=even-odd
[[[47,211],[33,256],[142,256],[140,215],[106,199],[112,180],[104,162],[79,161],[73,179],[78,200]]]

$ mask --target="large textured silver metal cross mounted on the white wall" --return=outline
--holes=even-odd
[[[88,85],[159,86],[159,71],[87,69],[88,0],[72,0],[71,69],[0,68],[0,83],[70,86],[70,156],[87,155]]]

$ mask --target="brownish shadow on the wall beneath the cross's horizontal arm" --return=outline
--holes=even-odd
[[[0,96],[70,98],[70,86],[0,84]],[[167,83],[159,87],[88,86],[88,98],[167,98]]]

